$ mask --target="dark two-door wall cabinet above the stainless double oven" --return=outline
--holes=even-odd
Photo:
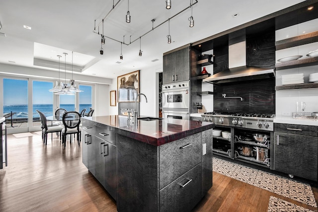
[[[190,79],[190,47],[163,55],[162,83]]]

